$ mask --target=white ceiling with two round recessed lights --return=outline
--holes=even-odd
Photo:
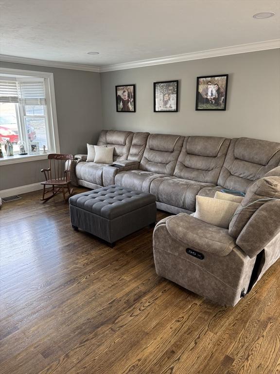
[[[102,67],[278,39],[280,1],[1,0],[0,22],[1,55]]]

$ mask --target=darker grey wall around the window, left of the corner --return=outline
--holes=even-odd
[[[61,153],[87,153],[102,130],[100,74],[80,70],[49,68],[1,62],[1,67],[53,73]],[[43,180],[41,168],[47,160],[0,167],[0,190]]]

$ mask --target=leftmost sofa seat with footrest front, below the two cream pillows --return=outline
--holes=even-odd
[[[103,186],[103,168],[105,164],[94,164],[93,162],[78,162],[76,165],[76,177],[79,180]]]

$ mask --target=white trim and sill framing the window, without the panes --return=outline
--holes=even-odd
[[[58,126],[57,126],[57,114],[56,114],[56,101],[55,101],[55,92],[54,92],[54,79],[53,73],[46,73],[46,72],[39,72],[33,70],[20,70],[20,69],[9,69],[9,68],[0,68],[0,77],[7,78],[10,75],[21,75],[24,76],[32,76],[32,77],[40,77],[40,78],[47,78],[45,82],[48,84],[48,89],[46,90],[46,101],[50,103],[50,105],[46,106],[47,111],[47,118],[51,119],[53,126],[48,124],[48,132],[52,131],[52,138],[53,138],[53,146],[55,153],[60,153],[60,146],[59,146],[59,137],[58,137]],[[37,161],[48,158],[48,154],[37,154],[37,155],[24,155],[24,156],[7,156],[7,158],[0,158],[0,166],[1,165],[10,165],[16,164],[20,162],[28,162],[28,161]]]

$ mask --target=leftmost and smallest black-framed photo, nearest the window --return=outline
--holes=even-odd
[[[117,112],[135,112],[135,84],[116,86]]]

